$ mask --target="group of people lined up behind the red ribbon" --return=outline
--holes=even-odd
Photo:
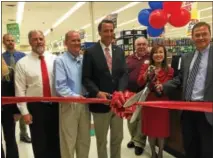
[[[164,46],[154,46],[149,54],[148,41],[140,37],[135,41],[135,53],[125,58],[124,51],[112,43],[112,21],[101,21],[98,32],[100,41],[81,54],[79,32],[68,31],[64,41],[67,51],[56,57],[45,51],[43,33],[30,31],[28,39],[32,52],[20,57],[16,63],[13,83],[15,94],[12,95],[109,99],[115,91],[129,90],[137,93],[142,90],[151,75],[149,68],[154,66],[155,77],[150,84],[151,92],[147,100],[168,100],[169,93],[182,88],[185,101],[212,102],[212,45],[211,30],[207,23],[199,22],[194,26],[192,40],[196,52],[183,57],[181,71],[174,78],[174,70],[167,64]],[[4,38],[13,37],[6,34]],[[9,52],[9,55],[19,56],[16,52]],[[198,66],[197,58],[200,62]],[[2,80],[6,80],[7,76],[8,73],[5,73]],[[108,104],[41,101],[17,103],[17,107],[19,110],[16,109],[13,114],[20,111],[25,123],[29,124],[35,158],[74,158],[74,153],[77,158],[88,158],[90,112],[94,119],[98,158],[108,158],[106,146],[109,128],[110,157],[122,157],[123,119],[112,112]],[[212,157],[212,114],[184,111],[181,124],[186,157]],[[131,140],[127,147],[134,148],[136,155],[143,153],[148,136],[152,158],[163,157],[165,138],[169,137],[168,109],[143,107],[134,123],[128,121],[128,127]],[[6,148],[17,150],[15,130],[11,136],[15,144],[7,145]],[[156,143],[159,146],[158,153],[155,150]],[[9,155],[8,151],[7,158],[18,157]]]

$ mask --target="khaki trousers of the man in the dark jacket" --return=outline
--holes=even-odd
[[[121,158],[123,140],[123,120],[112,112],[93,113],[98,158],[107,156],[107,133],[110,128],[110,158]]]

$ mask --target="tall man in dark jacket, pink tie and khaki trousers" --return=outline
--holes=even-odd
[[[90,97],[106,99],[114,91],[123,91],[128,84],[124,51],[111,44],[113,22],[103,20],[98,26],[101,40],[86,50],[83,59],[83,85]],[[105,104],[90,104],[93,113],[99,158],[107,158],[107,133],[110,127],[111,158],[121,157],[123,121]]]

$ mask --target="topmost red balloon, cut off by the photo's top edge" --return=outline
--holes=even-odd
[[[182,2],[163,2],[163,10],[167,13],[177,13],[180,11]]]

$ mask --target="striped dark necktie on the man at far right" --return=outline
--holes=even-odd
[[[202,53],[199,52],[197,59],[194,62],[194,65],[191,69],[191,72],[189,73],[188,76],[188,80],[187,80],[187,84],[186,84],[186,89],[185,89],[185,99],[186,101],[190,101],[191,100],[191,96],[192,96],[192,91],[194,88],[194,84],[195,84],[195,79],[199,70],[199,66],[200,66],[200,61],[201,61],[201,57],[202,57]]]

